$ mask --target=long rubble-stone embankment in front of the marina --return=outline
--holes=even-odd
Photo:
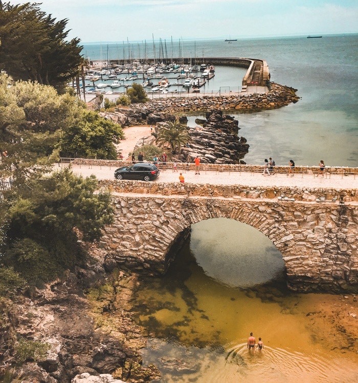
[[[100,112],[106,119],[122,126],[155,124],[173,120],[171,114],[206,112],[211,109],[222,111],[254,112],[284,107],[296,103],[297,89],[271,83],[268,93],[232,94],[220,96],[168,97],[133,104],[129,108],[117,107],[115,112]]]

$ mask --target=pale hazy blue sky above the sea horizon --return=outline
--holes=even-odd
[[[41,8],[68,18],[69,37],[83,42],[358,31],[357,0],[42,0]]]

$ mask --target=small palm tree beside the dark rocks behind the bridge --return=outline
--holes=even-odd
[[[157,144],[169,144],[173,153],[176,147],[180,152],[181,146],[191,141],[189,131],[186,126],[182,125],[179,121],[167,121],[159,130],[158,137],[155,142]]]

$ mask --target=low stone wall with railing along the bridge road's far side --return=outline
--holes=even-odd
[[[139,161],[136,161],[136,163]],[[146,163],[153,163],[153,161],[144,161]],[[122,161],[122,160],[97,160],[97,159],[86,159],[86,158],[60,158],[58,166],[61,167],[66,164],[75,164],[79,167],[88,166],[92,168],[93,166],[106,166],[106,167],[120,167],[128,166],[132,164],[132,161]],[[158,162],[157,166],[161,170],[171,170],[171,171],[181,171],[182,173],[190,172],[195,170],[195,164],[189,162]],[[252,175],[257,175],[258,173],[263,174],[265,166],[264,165],[241,165],[241,164],[209,164],[201,163],[200,172],[215,172],[215,174],[228,172],[230,173],[250,173]],[[292,171],[292,173],[289,173]],[[319,166],[295,166],[293,169],[290,166],[274,166],[273,171],[270,170],[270,177],[275,177],[279,174],[284,174],[287,176],[312,176],[312,177],[323,177],[330,179],[334,177],[347,177],[353,176],[354,179],[358,177],[358,167],[349,167],[349,166],[326,166],[324,172],[320,171]],[[266,175],[268,177],[268,175]]]

